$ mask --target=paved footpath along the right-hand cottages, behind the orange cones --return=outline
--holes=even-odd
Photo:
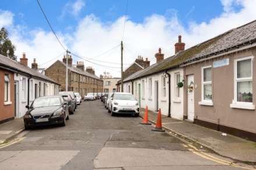
[[[141,108],[140,117],[144,117],[143,108]],[[148,120],[155,124],[157,122],[157,113],[148,110]],[[165,115],[162,115],[162,127],[179,138],[211,149],[223,157],[229,157],[236,161],[256,163],[255,142],[195,125],[193,122],[169,118]]]

